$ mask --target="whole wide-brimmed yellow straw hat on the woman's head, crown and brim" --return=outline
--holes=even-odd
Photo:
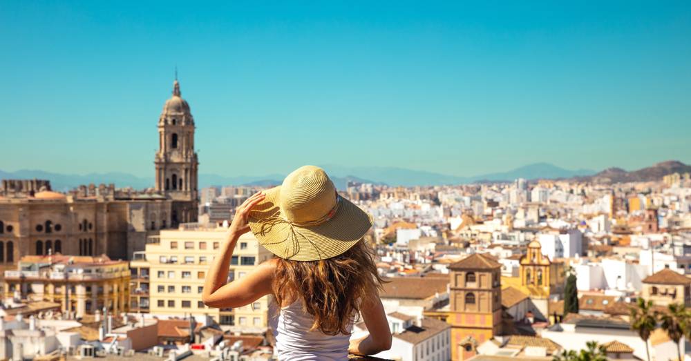
[[[249,228],[278,257],[316,261],[348,251],[372,227],[372,217],[338,195],[323,169],[303,166],[264,192]]]

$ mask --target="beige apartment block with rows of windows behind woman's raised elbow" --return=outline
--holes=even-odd
[[[202,302],[207,271],[226,242],[226,231],[215,225],[182,224],[177,230],[163,230],[160,236],[149,237],[146,251],[135,253],[130,262],[132,309],[171,317],[210,315],[231,330],[264,331],[267,296],[236,309],[210,308]],[[244,277],[271,257],[252,233],[246,233],[236,244],[228,280]]]

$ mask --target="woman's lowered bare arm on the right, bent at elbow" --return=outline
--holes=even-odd
[[[391,331],[379,297],[375,295],[363,300],[360,313],[370,334],[366,338],[352,340],[348,352],[354,355],[376,355],[390,349]]]

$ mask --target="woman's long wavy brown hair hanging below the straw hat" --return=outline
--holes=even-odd
[[[341,255],[319,261],[278,258],[272,291],[278,308],[303,300],[314,317],[310,331],[348,335],[362,302],[375,300],[384,280],[377,274],[372,249],[360,240]]]

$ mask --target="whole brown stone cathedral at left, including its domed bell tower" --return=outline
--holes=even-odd
[[[161,229],[196,222],[194,119],[177,80],[158,120],[158,138],[155,184],[144,191],[90,184],[58,193],[48,180],[0,182],[0,271],[16,269],[25,255],[105,254],[128,260]]]

